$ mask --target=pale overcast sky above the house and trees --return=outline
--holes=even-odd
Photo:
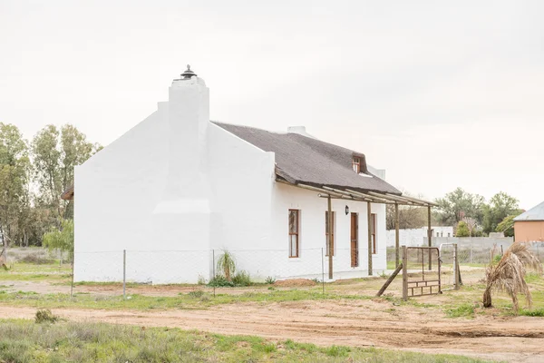
[[[544,2],[0,0],[0,122],[107,145],[191,64],[213,120],[305,125],[403,191],[544,201]]]

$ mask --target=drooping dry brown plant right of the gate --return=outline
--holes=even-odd
[[[524,242],[516,242],[510,249],[504,252],[498,264],[491,263],[486,271],[487,287],[483,292],[483,306],[490,308],[491,291],[506,292],[512,299],[514,311],[519,309],[518,294],[525,295],[527,305],[532,304],[529,286],[525,282],[526,267],[534,268],[542,272],[542,265],[529,250],[529,245]]]

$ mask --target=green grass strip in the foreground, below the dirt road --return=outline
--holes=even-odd
[[[181,329],[101,323],[0,320],[5,362],[452,362],[480,359],[377,348],[316,347],[293,340],[223,336]]]

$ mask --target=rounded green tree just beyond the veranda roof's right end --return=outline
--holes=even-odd
[[[440,206],[437,219],[446,225],[456,225],[463,218],[471,218],[481,224],[483,220],[484,198],[457,188],[436,200]]]

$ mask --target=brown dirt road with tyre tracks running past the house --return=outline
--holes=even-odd
[[[222,305],[206,310],[55,309],[74,321],[199,329],[292,338],[318,345],[374,346],[462,354],[511,362],[544,361],[544,319],[478,316],[446,319],[439,309],[384,300],[292,301]],[[32,319],[35,309],[0,306],[4,318]]]

